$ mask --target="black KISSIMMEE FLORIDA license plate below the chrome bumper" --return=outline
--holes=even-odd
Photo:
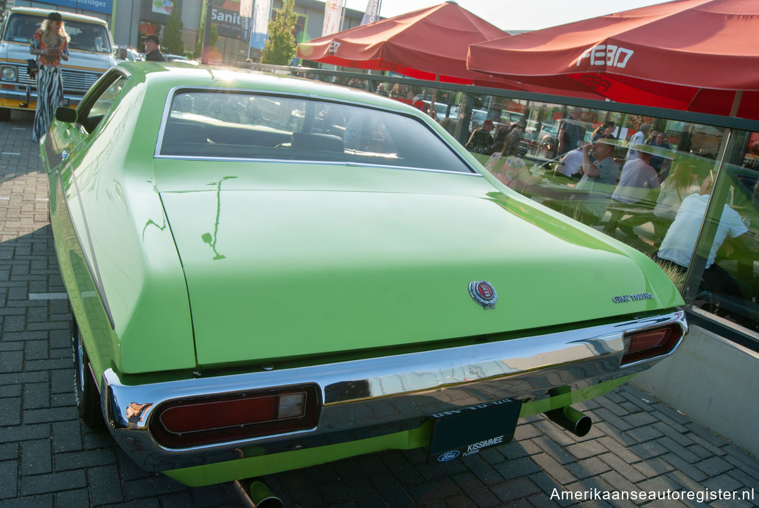
[[[435,424],[427,462],[447,462],[509,443],[520,409],[520,401],[503,399],[433,415]]]

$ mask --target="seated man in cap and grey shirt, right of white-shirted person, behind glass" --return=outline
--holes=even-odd
[[[616,185],[616,164],[612,157],[614,147],[600,138],[593,144],[582,147],[582,171],[584,175],[575,187],[578,191],[587,191],[579,210],[584,219],[600,221],[609,207],[614,185]],[[595,160],[591,160],[591,156]]]

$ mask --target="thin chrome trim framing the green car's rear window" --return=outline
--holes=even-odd
[[[162,155],[161,154],[161,148],[163,144],[163,135],[165,133],[166,124],[168,123],[168,117],[171,115],[172,112],[172,101],[174,99],[174,96],[182,91],[200,91],[200,92],[223,92],[223,93],[242,93],[247,95],[255,95],[255,94],[266,94],[269,96],[277,96],[277,97],[286,97],[288,99],[303,99],[303,100],[320,100],[326,103],[337,103],[337,104],[345,104],[348,106],[356,106],[360,108],[365,109],[376,109],[377,111],[383,111],[383,112],[389,112],[393,113],[395,115],[403,115],[407,118],[411,118],[414,121],[419,122],[420,124],[424,125],[424,128],[426,128],[428,131],[430,131],[437,139],[439,139],[443,144],[445,144],[446,147],[448,147],[449,150],[461,161],[461,163],[469,169],[471,173],[480,175],[480,172],[477,171],[477,169],[472,166],[471,162],[469,162],[465,157],[461,156],[461,153],[455,148],[455,145],[450,143],[449,140],[446,140],[445,137],[442,137],[439,132],[435,131],[435,129],[431,128],[431,125],[425,123],[425,121],[422,121],[420,117],[417,115],[411,115],[408,112],[399,111],[398,109],[388,109],[383,108],[383,106],[376,106],[374,104],[367,104],[367,103],[360,103],[353,100],[343,100],[343,99],[335,99],[334,97],[325,97],[320,95],[315,95],[311,93],[285,93],[285,92],[277,92],[275,90],[262,90],[258,88],[225,88],[225,87],[188,87],[187,85],[181,85],[178,87],[173,87],[171,90],[168,90],[168,95],[166,96],[166,102],[163,106],[163,113],[161,115],[161,127],[158,130],[158,139],[156,140],[156,150],[153,152],[153,158],[154,159],[162,159],[162,158],[172,158],[172,159],[191,159],[190,156],[168,156],[168,155]],[[368,92],[367,92],[368,93]],[[402,104],[402,103],[399,103]],[[427,118],[425,116],[425,118]],[[430,118],[431,121],[431,118]],[[201,160],[205,160],[205,158],[200,158]],[[232,160],[244,160],[244,161],[269,161],[272,160],[275,161],[289,161],[289,159],[239,159],[235,157],[230,157],[229,159]],[[227,160],[226,158],[209,158],[207,160]],[[289,161],[289,162],[296,162],[296,161]],[[300,161],[298,161],[300,162]],[[337,162],[335,162],[337,163]],[[346,162],[348,166],[364,166],[361,162]],[[367,164],[365,166],[376,166],[373,164]],[[388,166],[395,169],[420,169],[424,171],[427,168],[408,168],[407,166]],[[468,173],[460,172],[460,171],[449,171],[449,170],[436,170],[436,169],[429,169],[430,171],[445,171],[449,173],[461,173],[464,175],[467,175]]]

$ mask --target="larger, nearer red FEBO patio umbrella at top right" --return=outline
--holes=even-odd
[[[759,119],[759,2],[678,0],[469,48],[490,76]]]

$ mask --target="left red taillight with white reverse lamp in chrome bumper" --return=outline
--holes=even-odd
[[[235,393],[167,402],[152,415],[159,443],[196,446],[316,426],[320,402],[313,385],[266,392]]]

